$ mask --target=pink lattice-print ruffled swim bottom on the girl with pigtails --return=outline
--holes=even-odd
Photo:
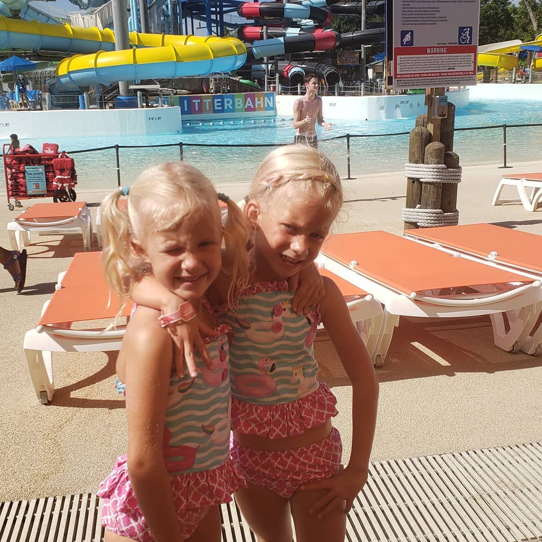
[[[171,474],[170,478],[183,538],[190,537],[211,506],[230,502],[231,493],[246,486],[240,469],[230,459],[213,469]],[[138,542],[154,542],[128,478],[126,455],[117,459],[101,483],[98,496],[104,501],[101,515],[104,527]]]

